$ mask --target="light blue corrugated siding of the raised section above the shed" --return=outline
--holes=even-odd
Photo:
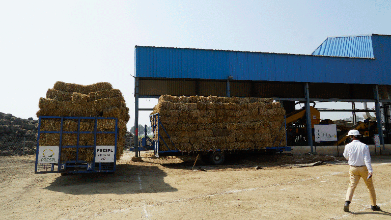
[[[312,55],[374,58],[372,36],[329,37],[312,53]]]

